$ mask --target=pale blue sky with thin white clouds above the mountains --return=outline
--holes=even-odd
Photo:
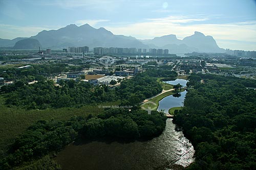
[[[255,0],[0,0],[0,38],[30,37],[75,23],[150,39],[195,31],[222,48],[256,51]]]

